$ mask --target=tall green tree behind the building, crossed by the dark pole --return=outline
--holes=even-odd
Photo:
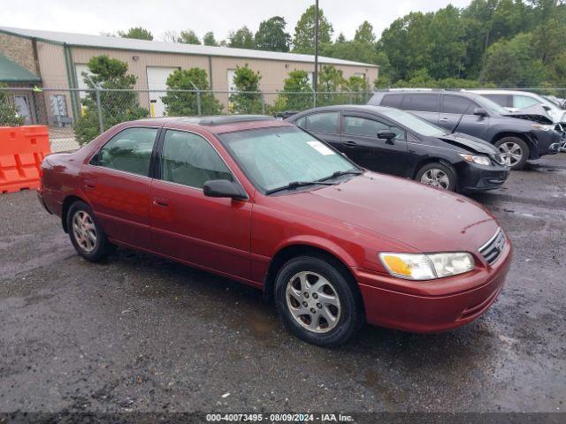
[[[318,42],[321,49],[332,43],[333,26],[325,17],[325,12],[318,8]],[[295,53],[315,52],[315,6],[310,6],[294,27],[293,51]]]

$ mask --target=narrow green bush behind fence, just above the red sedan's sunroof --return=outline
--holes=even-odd
[[[248,64],[236,66],[233,84],[236,92],[230,95],[230,111],[233,113],[262,113],[262,94],[259,92],[259,81],[262,76],[252,71]]]

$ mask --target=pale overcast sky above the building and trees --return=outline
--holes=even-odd
[[[129,27],[149,29],[160,40],[165,31],[193,29],[199,37],[213,31],[222,40],[230,31],[283,16],[287,32],[314,0],[0,0],[0,26],[80,34],[116,33]],[[352,38],[363,20],[376,34],[410,11],[436,11],[447,4],[464,7],[470,0],[319,0],[319,7],[340,32]]]

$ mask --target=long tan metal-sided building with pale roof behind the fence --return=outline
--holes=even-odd
[[[295,69],[312,72],[314,66],[314,57],[310,55],[12,27],[0,27],[0,53],[38,75],[42,87],[61,89],[86,87],[80,72],[86,69],[91,57],[98,55],[108,55],[126,62],[128,72],[137,77],[135,88],[141,90],[164,89],[167,71],[199,67],[209,75],[213,90],[228,92],[233,70],[238,65],[249,64],[252,70],[260,72],[262,76],[261,90],[276,92],[283,88],[288,72]],[[363,75],[370,86],[379,76],[379,67],[375,64],[330,57],[319,57],[319,64],[321,67],[332,64],[343,72],[346,79]],[[227,93],[217,96],[226,106]],[[272,102],[274,97],[265,95],[265,101]],[[160,101],[151,99],[151,94],[147,102],[150,100],[157,100],[156,111],[161,113]],[[70,99],[67,102],[69,110],[75,110],[76,113],[79,107],[76,98],[74,104]]]

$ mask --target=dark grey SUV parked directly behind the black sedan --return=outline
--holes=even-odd
[[[553,125],[510,116],[481,95],[447,90],[399,90],[375,93],[368,104],[409,110],[452,133],[465,133],[499,148],[512,170],[529,159],[554,155],[561,136]]]

